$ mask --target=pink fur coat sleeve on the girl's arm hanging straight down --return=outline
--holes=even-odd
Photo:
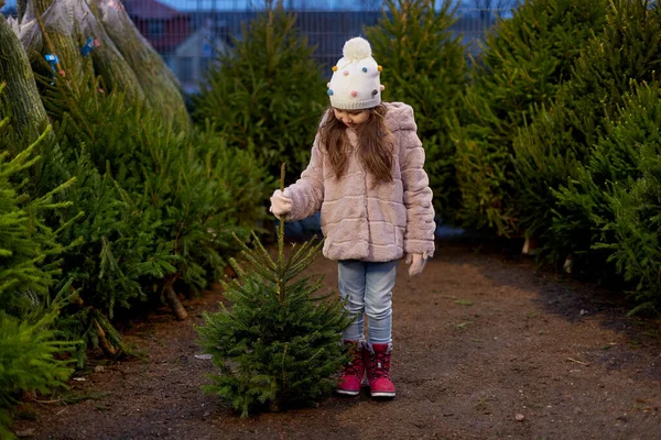
[[[436,223],[430,179],[424,170],[424,148],[414,130],[402,130],[400,135],[400,166],[407,207],[404,252],[430,257],[435,249]]]

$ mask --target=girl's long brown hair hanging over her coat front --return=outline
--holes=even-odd
[[[388,109],[386,106],[379,105],[366,109],[366,111],[369,111],[367,121],[356,125],[358,158],[377,182],[392,182],[394,142],[383,119]],[[344,122],[335,118],[333,107],[326,110],[324,118],[325,121],[319,128],[319,141],[328,152],[335,177],[339,179],[347,167],[347,147],[349,145],[347,128]]]

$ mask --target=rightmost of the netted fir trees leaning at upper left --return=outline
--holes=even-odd
[[[118,0],[95,0],[95,2],[101,10],[106,32],[138,76],[150,107],[154,111],[162,112],[174,127],[187,129],[188,111],[178,81],[161,55],[140,34]]]

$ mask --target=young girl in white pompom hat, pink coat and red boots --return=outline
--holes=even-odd
[[[345,43],[328,82],[325,112],[301,178],[271,197],[271,212],[300,220],[321,209],[323,253],[338,262],[339,292],[354,323],[344,333],[351,362],[337,392],[358,395],[365,373],[372,397],[394,397],[390,381],[392,288],[398,260],[420,274],[434,253],[432,190],[411,107],[381,102],[369,43]],[[364,337],[368,317],[368,341]]]

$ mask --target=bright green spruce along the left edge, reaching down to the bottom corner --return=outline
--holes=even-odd
[[[0,86],[0,95],[3,86]],[[53,329],[59,308],[68,299],[67,290],[55,298],[50,288],[61,274],[63,248],[56,231],[43,221],[45,211],[59,209],[53,196],[66,190],[61,185],[43,197],[24,194],[21,174],[40,160],[33,152],[50,134],[48,129],[30,147],[9,160],[6,142],[15,136],[9,131],[9,118],[0,120],[0,438],[12,439],[11,407],[25,391],[47,393],[63,385],[72,373],[68,362],[55,355],[74,349],[59,342]],[[63,295],[66,293],[66,295]]]

